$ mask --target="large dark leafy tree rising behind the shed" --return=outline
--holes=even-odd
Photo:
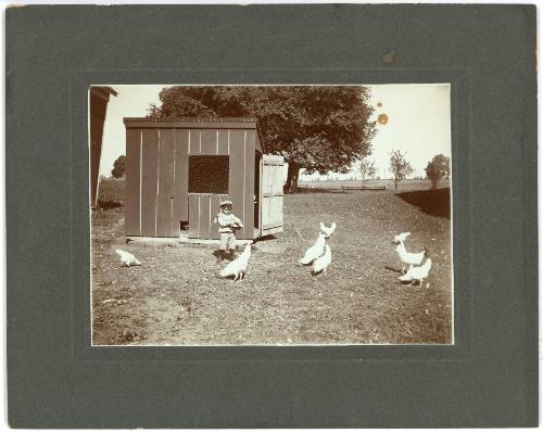
[[[289,192],[302,168],[348,173],[370,154],[376,132],[369,89],[358,86],[176,86],[160,99],[150,107],[152,118],[256,117],[266,152],[289,164]]]

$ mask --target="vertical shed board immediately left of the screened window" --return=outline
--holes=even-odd
[[[189,131],[175,129],[174,222],[189,220]]]

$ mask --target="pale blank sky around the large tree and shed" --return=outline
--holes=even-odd
[[[123,117],[143,117],[151,103],[160,105],[159,92],[167,87],[104,85],[113,87],[117,97],[111,97],[104,124],[100,175],[110,176],[113,162],[125,154]],[[390,177],[390,152],[401,150],[406,155],[415,176],[425,176],[428,162],[440,153],[451,156],[451,95],[449,84],[400,84],[366,86],[371,91],[375,109],[371,120],[380,114],[387,124],[377,123],[377,135],[371,142],[376,176]],[[379,106],[380,104],[380,106]],[[353,170],[346,175],[328,176],[301,174],[300,180],[359,178]]]

